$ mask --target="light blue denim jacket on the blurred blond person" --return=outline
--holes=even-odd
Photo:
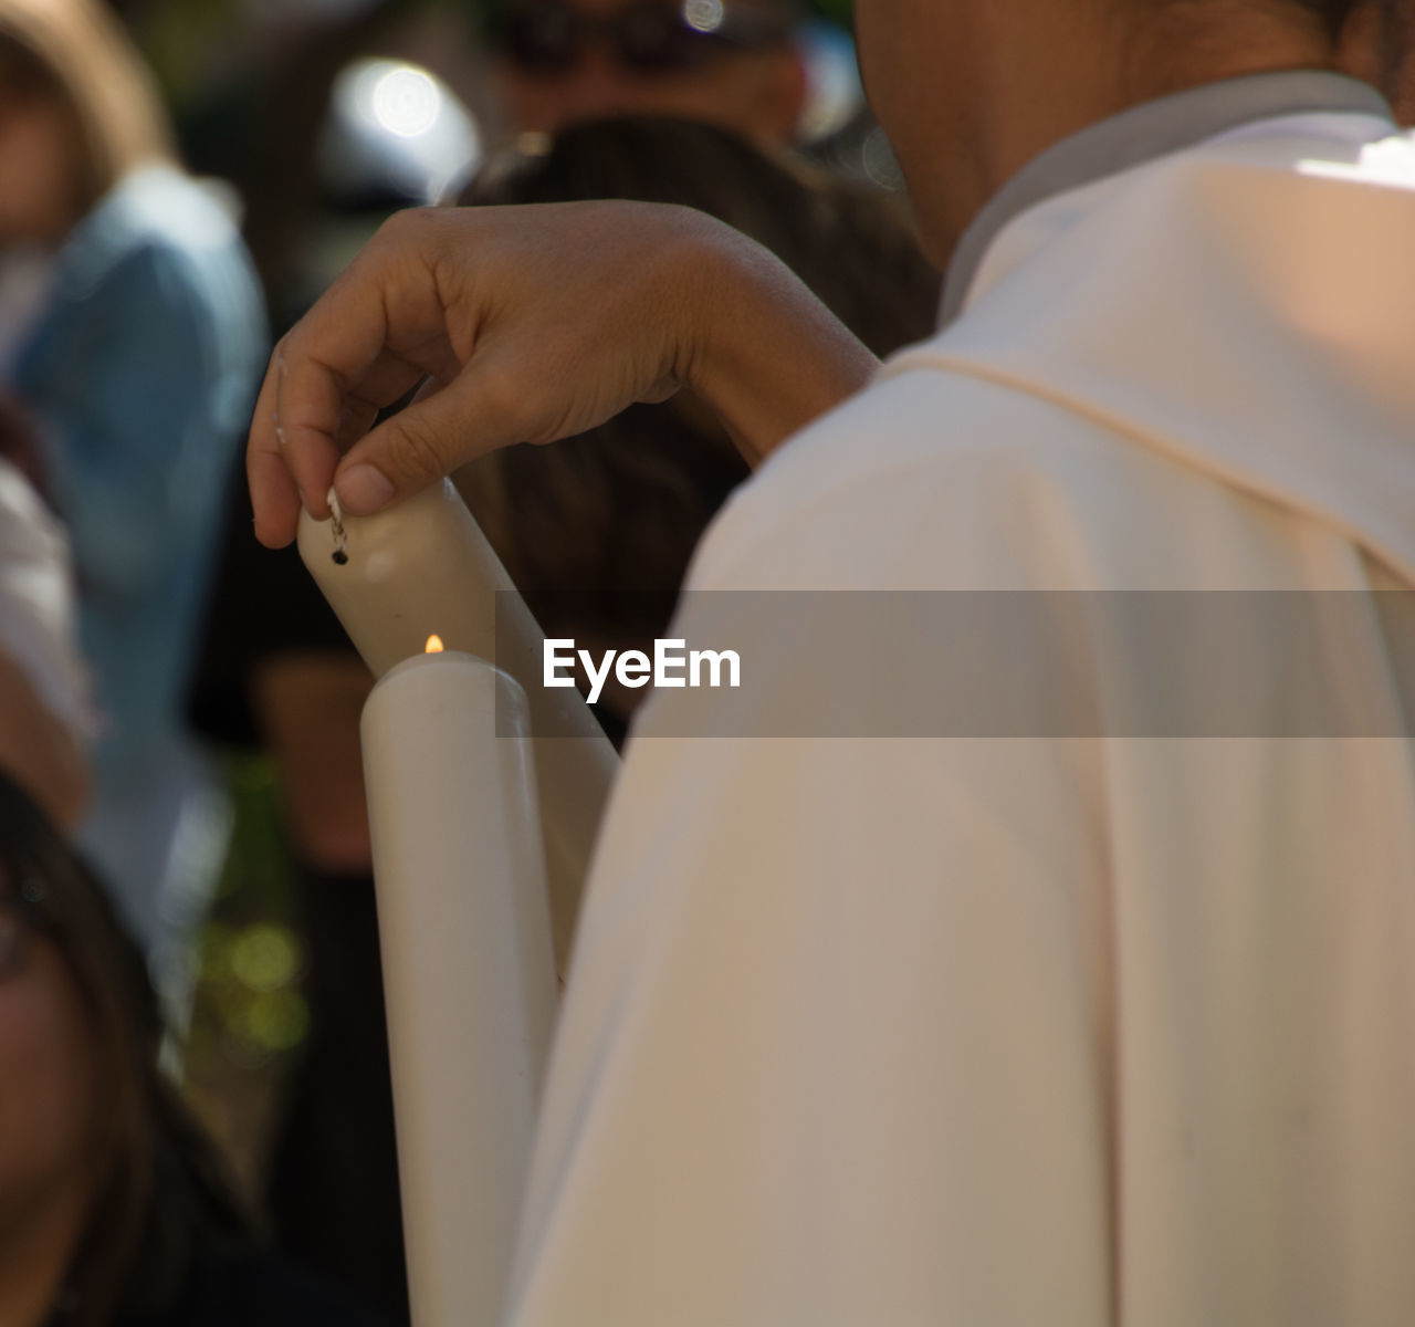
[[[222,495],[266,352],[255,272],[224,208],[168,167],[125,178],[71,233],[14,386],[51,443],[81,637],[106,733],[99,782],[183,727]]]

